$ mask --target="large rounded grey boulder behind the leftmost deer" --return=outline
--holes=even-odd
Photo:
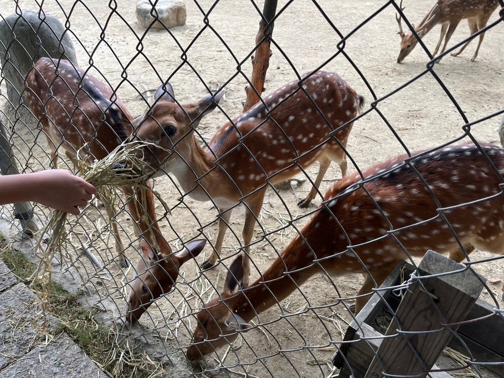
[[[0,22],[0,63],[7,85],[7,96],[16,107],[24,99],[26,74],[42,56],[64,58],[77,65],[75,48],[59,20],[46,13],[40,20],[33,11],[22,11]]]

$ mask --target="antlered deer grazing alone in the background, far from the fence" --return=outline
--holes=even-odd
[[[399,7],[401,10],[404,10],[402,3],[401,0]],[[432,53],[432,56],[435,56],[441,46],[443,38],[445,38],[445,43],[443,44],[441,53],[445,52],[448,41],[461,20],[467,19],[469,30],[471,31],[471,35],[473,35],[486,26],[488,19],[495,8],[497,8],[497,5],[498,0],[437,0],[436,4],[429,13],[427,13],[420,24],[416,27],[414,25],[412,26],[418,36],[423,38],[434,26],[441,24],[439,40]],[[399,32],[397,34],[401,37],[401,50],[397,58],[397,62],[400,63],[415,48],[418,40],[412,32],[408,32],[407,34],[403,32],[401,17],[397,14],[396,20],[399,24]],[[483,42],[484,35],[485,33],[479,35],[478,47],[473,57],[470,59],[471,61],[474,61],[478,56],[479,47],[481,46],[481,42]],[[452,53],[452,55],[458,56],[461,54],[470,42],[471,40],[467,41],[459,51]]]

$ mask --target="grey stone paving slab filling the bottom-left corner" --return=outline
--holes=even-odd
[[[10,364],[0,372],[0,378],[14,376],[98,378],[106,375],[67,334],[61,334],[48,345],[38,345],[24,358]]]

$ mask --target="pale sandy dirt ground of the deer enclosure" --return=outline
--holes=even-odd
[[[0,0],[2,16],[14,13],[17,3],[21,9],[38,9],[35,2]],[[198,0],[198,3],[187,0],[187,22],[184,26],[173,28],[170,33],[151,30],[145,35],[145,30],[135,17],[136,2],[117,2],[114,12],[107,2],[86,0],[83,3],[74,5],[71,1],[61,1],[57,4],[50,0],[43,3],[43,9],[44,12],[56,15],[63,24],[68,18],[80,66],[87,67],[92,62],[98,72],[92,70],[91,73],[106,78],[114,88],[118,86],[119,96],[134,114],[143,112],[146,107],[139,94],[157,88],[161,81],[168,78],[177,100],[182,103],[199,100],[208,94],[205,85],[215,90],[226,83],[226,95],[220,103],[222,111],[216,110],[205,117],[198,129],[205,141],[209,141],[226,122],[226,114],[230,117],[240,114],[245,99],[244,77],[251,72],[250,59],[247,57],[254,47],[260,20],[253,3],[222,0],[214,4],[209,0]],[[432,6],[431,3],[430,0],[405,1],[406,17],[411,22],[418,23]],[[424,73],[429,59],[421,46],[417,46],[403,64],[397,64],[400,38],[396,34],[398,26],[394,18],[395,9],[391,5],[385,7],[386,5],[384,1],[357,3],[350,0],[321,0],[318,6],[324,11],[324,17],[311,1],[295,0],[289,4],[285,0],[280,1],[278,10],[282,14],[275,24],[273,55],[265,94],[294,80],[297,73],[323,67],[339,73],[357,93],[364,96],[364,109],[367,110],[373,100],[388,95]],[[262,9],[263,3],[258,3],[257,7]],[[382,7],[385,9],[372,17]],[[205,27],[203,13],[206,14],[210,9],[208,23],[211,27]],[[488,24],[497,18],[498,13],[494,12]],[[366,20],[368,21],[364,25],[356,29]],[[344,52],[353,64],[343,54],[333,57],[338,51],[341,37],[331,24],[342,35],[351,33],[345,42]],[[101,28],[104,28],[103,38],[100,37]],[[356,121],[347,146],[354,162],[349,160],[349,172],[355,170],[354,164],[362,169],[404,153],[398,138],[408,150],[415,151],[463,136],[462,126],[466,122],[444,87],[450,91],[469,122],[501,110],[504,106],[502,28],[504,25],[500,23],[486,33],[476,61],[469,61],[476,48],[473,41],[461,56],[446,56],[434,66],[432,73],[426,73],[379,102],[375,110]],[[431,51],[437,42],[439,29],[439,26],[435,27],[423,39]],[[449,47],[468,35],[467,24],[463,21]],[[141,43],[139,37],[142,37]],[[354,66],[358,68],[358,72]],[[5,100],[4,89],[3,86],[0,101]],[[471,135],[480,141],[498,143],[497,125],[500,118],[501,116],[490,117],[475,123],[471,127]],[[18,126],[15,140],[19,142],[18,158],[25,167],[35,170],[41,166],[48,167],[43,136]],[[31,148],[34,142],[39,147]],[[317,164],[307,172],[314,178]],[[298,175],[296,178],[304,177]],[[332,164],[322,183],[321,192],[325,193],[339,178],[341,172],[336,164]],[[283,228],[296,218],[299,218],[294,222],[296,227],[302,226],[309,219],[302,215],[313,211],[320,204],[321,198],[318,196],[308,209],[296,206],[309,189],[310,184],[305,181],[301,184],[293,182],[291,187],[277,193],[272,190],[268,192],[260,218],[262,228],[256,227],[256,243],[251,247],[251,258],[259,271],[264,271],[271,265],[277,256],[274,248],[282,251],[296,231],[288,226],[267,237],[264,233]],[[171,215],[162,219],[161,227],[166,239],[175,249],[179,249],[182,242],[196,236],[215,241],[217,211],[210,202],[198,202],[188,197],[180,200],[177,182],[170,176],[157,178],[155,190],[171,209]],[[77,219],[79,226],[75,227],[73,241],[78,246],[76,238],[84,238],[102,256],[104,264],[108,263],[114,280],[101,281],[86,259],[78,260],[82,275],[92,276],[88,280],[88,286],[98,288],[104,296],[117,302],[114,311],[117,316],[124,307],[124,290],[121,286],[131,279],[132,271],[124,275],[115,264],[109,263],[114,254],[113,242],[107,232],[106,221],[97,220],[96,213],[96,209],[92,207],[85,216]],[[161,205],[158,206],[158,214],[166,214]],[[232,217],[235,235],[241,235],[243,219],[243,210],[235,210]],[[119,220],[121,234],[128,240],[133,233],[128,215],[121,215]],[[75,218],[72,217],[71,221],[75,221]],[[106,245],[112,250],[108,250]],[[136,261],[138,252],[134,246],[128,249],[128,254],[131,260]],[[239,246],[240,238],[227,232],[223,258],[235,254]],[[210,250],[211,247],[207,244],[204,254],[198,258],[199,263],[208,257]],[[477,252],[471,258],[478,260],[490,256]],[[145,332],[161,338],[169,348],[179,348],[170,352],[171,358],[184,360],[184,347],[190,342],[191,330],[195,327],[194,314],[201,308],[203,301],[214,296],[215,291],[221,290],[226,274],[225,266],[231,262],[232,259],[223,259],[222,264],[203,275],[199,274],[196,263],[188,263],[182,270],[184,278],[179,280],[175,291],[158,300],[151,307],[150,316],[142,319]],[[486,277],[493,294],[500,297],[504,261],[477,264],[475,269]],[[253,268],[250,282],[258,276],[258,270]],[[244,334],[243,340],[235,343],[234,351],[230,350],[225,355],[222,364],[250,376],[309,377],[331,374],[329,360],[335,352],[334,345],[342,340],[346,323],[352,319],[345,305],[337,303],[340,297],[355,295],[363,281],[360,275],[332,278],[338,289],[336,291],[328,280],[330,278],[320,275],[312,277],[300,291],[261,314],[260,323],[263,326]],[[486,291],[482,298],[492,301],[491,295]],[[345,303],[352,304],[352,300]],[[281,318],[280,314],[283,314]],[[218,351],[221,358],[225,349]],[[219,372],[219,363],[213,356],[210,356],[207,368],[215,369],[214,373],[209,374],[226,374]],[[190,374],[191,371],[191,367],[187,366],[185,373]]]

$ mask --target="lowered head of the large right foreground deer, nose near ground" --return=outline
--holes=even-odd
[[[205,304],[198,313],[198,325],[186,353],[191,361],[201,360],[217,348],[233,342],[238,337],[238,331],[252,328],[232,311],[233,298],[243,295],[235,292],[242,279],[242,256],[239,256],[229,268],[221,297]]]

